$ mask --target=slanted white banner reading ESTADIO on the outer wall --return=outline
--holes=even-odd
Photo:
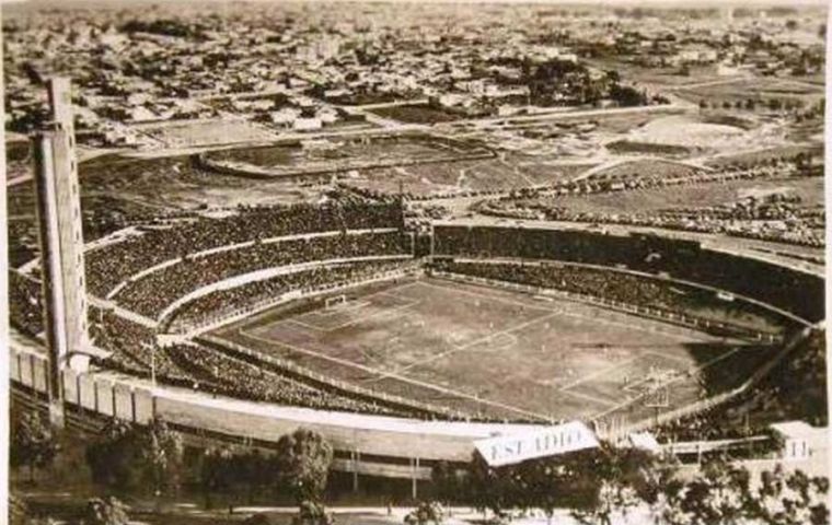
[[[580,421],[474,442],[476,450],[492,467],[594,448],[598,445],[594,432]]]

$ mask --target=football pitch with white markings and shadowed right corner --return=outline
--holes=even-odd
[[[769,352],[593,306],[438,279],[285,306],[219,330],[335,380],[507,419],[642,413],[737,385]],[[648,413],[648,415],[649,415]]]

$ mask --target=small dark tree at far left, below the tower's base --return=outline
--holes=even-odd
[[[39,412],[19,412],[12,422],[9,462],[13,468],[28,467],[30,481],[35,482],[35,469],[51,465],[58,444],[51,428]]]

